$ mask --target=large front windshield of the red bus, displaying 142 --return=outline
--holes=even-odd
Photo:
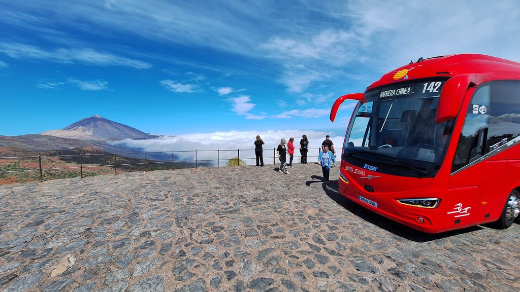
[[[435,123],[446,80],[417,79],[365,92],[350,121],[343,159],[388,174],[435,176],[453,124]]]

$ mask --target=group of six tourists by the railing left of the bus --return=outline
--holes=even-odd
[[[289,138],[289,142],[285,145],[287,141],[282,138],[280,140],[280,144],[278,144],[277,152],[278,159],[280,160],[280,168],[278,172],[283,172],[284,174],[291,174],[289,172],[288,167],[293,167],[293,158],[294,158],[294,138]],[[264,166],[264,156],[263,156],[263,148],[262,145],[265,144],[264,140],[260,136],[256,136],[255,144],[255,156],[256,156],[256,166]],[[300,163],[307,163],[307,153],[309,151],[309,140],[307,139],[307,135],[303,135],[300,140],[300,154],[301,160]],[[287,163],[287,154],[289,154],[289,164]],[[325,140],[321,143],[321,151],[318,155],[318,164],[321,165],[321,170],[323,171],[323,180],[329,181],[330,168],[335,166],[336,163],[336,151],[334,149],[334,143],[330,140],[330,136],[325,136]]]

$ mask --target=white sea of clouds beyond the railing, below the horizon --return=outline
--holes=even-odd
[[[341,152],[344,136],[339,136],[334,132],[316,131],[316,130],[285,130],[285,131],[226,131],[212,133],[194,133],[176,136],[161,136],[155,139],[132,140],[124,139],[111,142],[115,145],[125,145],[143,152],[170,152],[174,151],[176,161],[194,161],[195,150],[197,150],[197,160],[206,161],[211,165],[217,165],[217,149],[219,165],[226,165],[226,162],[237,156],[237,150],[240,149],[240,159],[244,160],[248,165],[254,165],[254,141],[256,135],[264,140],[264,163],[271,164],[273,161],[273,149],[278,147],[280,139],[284,138],[289,142],[289,138],[294,138],[294,146],[296,148],[294,154],[294,162],[300,162],[300,151],[298,151],[300,139],[302,135],[307,135],[309,140],[308,162],[317,161],[318,148],[326,135],[331,136],[334,147],[337,152]],[[210,150],[210,151],[208,151]],[[175,152],[186,151],[186,152]],[[276,154],[278,157],[278,154]],[[293,162],[293,163],[294,163]],[[278,163],[278,158],[276,159]]]

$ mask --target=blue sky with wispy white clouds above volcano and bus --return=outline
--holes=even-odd
[[[0,0],[0,135],[98,114],[152,134],[341,136],[353,104],[332,124],[334,100],[410,60],[520,61],[518,19],[516,1]]]

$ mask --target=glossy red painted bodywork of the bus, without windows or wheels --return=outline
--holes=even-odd
[[[395,80],[396,75],[404,76],[396,74],[397,72],[405,72],[406,79]],[[461,74],[471,74],[465,77],[471,81],[471,85],[460,90],[461,96],[453,97],[458,104],[453,104],[452,107],[457,107],[459,116],[464,117],[476,86],[497,79],[520,80],[520,63],[476,54],[434,57],[388,72],[367,89],[412,78],[453,77]],[[334,117],[344,99],[334,104]],[[355,115],[354,112],[351,121]],[[437,123],[439,122],[441,121],[437,119]],[[464,118],[457,118],[444,162],[435,177],[412,178],[382,174],[342,160],[340,172],[348,182],[340,177],[340,193],[374,213],[428,233],[496,221],[501,216],[509,192],[520,187],[520,144],[452,174],[451,164],[463,123]],[[369,176],[372,178],[369,179]],[[373,188],[373,192],[365,190],[366,184]],[[359,196],[377,203],[377,207],[360,201]],[[437,208],[432,209],[404,205],[397,201],[411,197],[435,197],[441,201]]]

